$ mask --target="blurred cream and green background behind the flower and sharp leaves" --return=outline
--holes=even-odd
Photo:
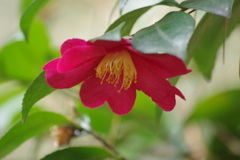
[[[123,14],[157,2],[129,0]],[[0,137],[20,119],[27,87],[46,62],[60,56],[60,45],[70,38],[88,40],[100,36],[120,16],[118,8],[114,9],[117,0],[52,0],[34,19],[26,43],[19,21],[30,3],[31,0],[0,0]],[[178,10],[153,7],[137,21],[132,33]],[[202,11],[193,14],[196,22],[203,15]],[[35,104],[31,112],[47,110],[71,119],[76,109],[90,119],[96,132],[129,159],[239,160],[239,44],[238,25],[226,41],[224,64],[222,47],[219,48],[211,81],[205,80],[191,61],[188,68],[193,71],[177,83],[186,101],[177,98],[175,109],[164,112],[160,120],[156,119],[155,104],[140,92],[131,113],[122,117],[113,115],[107,106],[85,108],[78,97],[80,86],[53,92]],[[101,146],[101,143],[84,135],[71,139],[69,145]],[[57,149],[49,130],[26,141],[3,160],[39,159]]]

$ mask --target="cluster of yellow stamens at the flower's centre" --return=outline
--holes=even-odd
[[[101,84],[103,84],[103,80],[106,79],[108,83],[114,84],[116,87],[122,74],[122,86],[118,92],[123,88],[127,90],[130,88],[132,82],[137,82],[136,68],[130,53],[126,50],[114,54],[107,54],[96,68],[96,77],[102,79]]]

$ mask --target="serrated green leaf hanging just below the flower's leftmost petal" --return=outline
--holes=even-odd
[[[50,87],[45,80],[45,71],[41,72],[28,87],[22,103],[22,121],[25,122],[31,107],[46,95],[52,93],[54,88]]]

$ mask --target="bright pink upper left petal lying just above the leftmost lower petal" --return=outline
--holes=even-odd
[[[97,46],[79,46],[69,49],[59,60],[57,70],[60,73],[71,70],[79,65],[92,60],[93,58],[101,57],[107,54],[102,47]]]

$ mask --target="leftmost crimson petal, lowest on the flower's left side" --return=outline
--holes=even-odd
[[[56,69],[49,69],[46,71],[47,83],[57,89],[64,89],[73,87],[95,73],[94,68],[100,60],[94,59],[84,65],[64,73],[59,73]],[[53,66],[52,66],[53,67]],[[55,64],[57,67],[57,64]]]

